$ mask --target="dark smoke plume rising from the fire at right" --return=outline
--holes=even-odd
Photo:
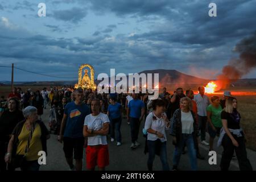
[[[230,60],[229,64],[222,68],[222,74],[217,77],[219,88],[226,88],[230,82],[241,79],[256,68],[256,31],[254,35],[242,39],[234,51],[240,53],[240,57]]]

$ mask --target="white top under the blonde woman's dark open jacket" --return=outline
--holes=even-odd
[[[192,134],[194,130],[194,119],[191,114],[191,111],[185,113],[181,111],[181,125],[182,125],[182,133],[183,134]]]

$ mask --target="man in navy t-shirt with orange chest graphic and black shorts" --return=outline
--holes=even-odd
[[[84,119],[90,114],[90,109],[82,104],[84,92],[81,88],[75,90],[75,102],[69,102],[64,110],[61,122],[59,141],[63,141],[65,158],[71,169],[74,169],[73,158],[76,160],[76,171],[82,170],[82,156],[84,151]],[[73,154],[74,153],[74,154]]]

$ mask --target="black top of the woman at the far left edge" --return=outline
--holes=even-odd
[[[0,117],[0,139],[5,139],[7,135],[13,132],[14,127],[18,122],[24,119],[22,111],[17,110],[10,112],[6,110]]]

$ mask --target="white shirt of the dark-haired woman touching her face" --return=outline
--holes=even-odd
[[[164,115],[166,115],[166,113],[164,113]],[[153,119],[153,116],[156,118],[155,120]],[[152,130],[162,133],[164,135],[164,137],[159,138],[159,139],[161,140],[161,142],[167,141],[165,130],[168,130],[169,128],[166,127],[166,123],[164,122],[164,119],[156,117],[156,115],[153,112],[151,112],[147,115],[144,129],[145,130],[152,129]],[[147,140],[155,141],[156,139],[158,139],[157,135],[152,134],[152,133],[147,133]]]

